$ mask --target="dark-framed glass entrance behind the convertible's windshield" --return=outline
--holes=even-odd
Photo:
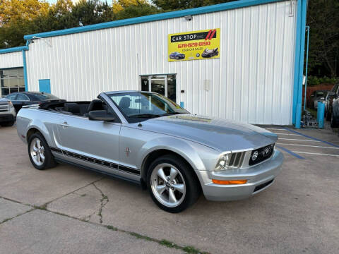
[[[141,75],[141,90],[157,92],[173,102],[177,101],[177,80],[175,74]]]

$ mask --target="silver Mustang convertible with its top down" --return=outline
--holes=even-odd
[[[190,114],[153,92],[103,92],[92,102],[46,102],[18,112],[36,169],[66,162],[141,184],[167,212],[198,199],[249,198],[283,164],[263,128]]]

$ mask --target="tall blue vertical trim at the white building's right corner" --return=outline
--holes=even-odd
[[[299,0],[297,5],[297,30],[295,47],[295,78],[293,86],[292,123],[300,128],[302,120],[302,80],[304,67],[305,28],[307,0]]]

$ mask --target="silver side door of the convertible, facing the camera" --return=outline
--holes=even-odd
[[[119,166],[121,122],[92,121],[87,116],[63,114],[58,123],[64,158],[92,169],[114,173]]]

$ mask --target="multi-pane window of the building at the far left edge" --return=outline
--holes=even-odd
[[[1,96],[25,91],[23,68],[0,69]]]

